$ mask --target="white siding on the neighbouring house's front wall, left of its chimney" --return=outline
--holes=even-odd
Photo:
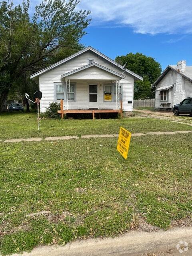
[[[171,76],[171,70],[162,78],[162,80],[158,83],[156,86],[156,89],[161,86],[171,86],[173,84],[176,84],[176,72],[173,72],[173,76]],[[175,86],[174,86],[175,87]],[[168,103],[170,103],[170,107],[172,107],[173,104],[173,92],[174,87],[168,90]],[[160,102],[160,92],[155,93],[155,108],[162,108],[161,102]]]

